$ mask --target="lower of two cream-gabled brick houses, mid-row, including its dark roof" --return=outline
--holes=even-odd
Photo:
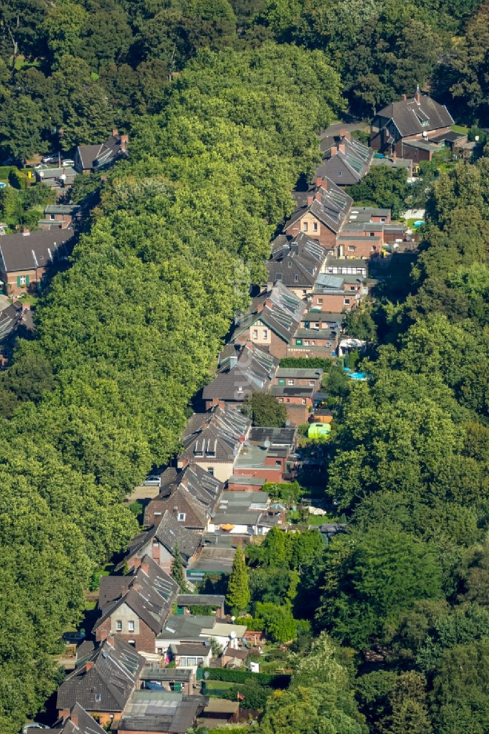
[[[287,346],[304,309],[303,300],[278,280],[272,288],[253,299],[245,316],[235,319],[237,326],[231,341],[234,344],[252,341],[274,357],[286,357]]]

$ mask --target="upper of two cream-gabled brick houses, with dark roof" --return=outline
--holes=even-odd
[[[283,231],[291,239],[306,233],[328,250],[334,247],[351,206],[352,198],[336,183],[317,178],[316,185],[305,192],[305,203],[291,214]]]

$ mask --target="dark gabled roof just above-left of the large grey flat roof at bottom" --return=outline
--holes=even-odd
[[[104,640],[58,688],[58,711],[79,703],[87,711],[123,711],[137,684],[145,658],[117,637]]]

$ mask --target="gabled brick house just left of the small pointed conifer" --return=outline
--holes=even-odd
[[[183,518],[179,519],[176,512],[166,511],[159,523],[155,523],[131,541],[126,556],[115,570],[122,570],[126,564],[129,568],[138,566],[140,559],[148,555],[166,573],[170,573],[176,541],[180,546],[182,562],[187,566],[197,556],[202,534],[187,530],[183,525]]]

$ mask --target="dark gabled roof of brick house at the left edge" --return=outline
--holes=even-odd
[[[30,234],[6,234],[0,237],[0,269],[5,272],[35,270],[69,254],[73,230],[40,230]],[[1,266],[4,263],[4,268]]]

